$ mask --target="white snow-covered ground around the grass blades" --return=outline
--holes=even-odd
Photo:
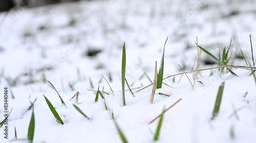
[[[0,13],[0,120],[4,120],[4,87],[8,88],[8,138],[1,128],[0,142],[28,142],[28,127],[34,102],[33,142],[121,142],[112,120],[112,111],[129,142],[154,142],[158,120],[164,113],[158,142],[255,142],[256,89],[249,70],[221,73],[218,69],[199,72],[193,89],[185,75],[163,80],[150,103],[152,86],[136,92],[153,81],[155,61],[158,69],[166,38],[164,77],[196,69],[195,41],[219,57],[219,48],[232,39],[228,64],[252,64],[249,35],[256,46],[256,1],[82,1],[35,9]],[[122,46],[126,46],[126,79],[133,89],[121,88]],[[92,52],[92,51],[100,52]],[[255,50],[253,51],[255,55]],[[93,56],[89,56],[89,54]],[[213,65],[209,65],[209,63]],[[199,69],[217,67],[201,51]],[[194,82],[194,73],[187,74]],[[102,78],[104,76],[110,83]],[[53,83],[68,108],[61,105]],[[220,84],[225,81],[220,111],[211,120]],[[91,83],[92,82],[92,83]],[[96,90],[104,101],[94,102]],[[127,90],[128,87],[125,87]],[[92,91],[93,90],[93,91]],[[11,91],[14,98],[11,97]],[[77,105],[91,119],[84,118]],[[44,94],[56,108],[64,124],[55,121]],[[237,112],[236,115],[233,115]],[[17,140],[15,137],[15,128]]]

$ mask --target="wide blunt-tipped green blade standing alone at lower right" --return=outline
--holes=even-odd
[[[223,81],[219,87],[219,91],[216,97],[215,105],[214,105],[214,111],[212,112],[212,118],[211,120],[214,120],[215,117],[218,115],[219,110],[220,110],[220,105],[221,105],[221,99],[222,99],[222,94],[223,94],[223,89],[224,89],[224,84],[225,82]]]

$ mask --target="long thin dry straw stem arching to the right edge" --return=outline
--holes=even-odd
[[[167,79],[167,78],[169,78],[169,77],[172,77],[172,76],[182,75],[182,74],[186,74],[186,73],[193,73],[193,72],[196,72],[196,71],[205,71],[205,70],[211,70],[211,69],[220,69],[220,68],[225,68],[225,67],[232,67],[232,68],[246,69],[246,70],[251,70],[251,69],[256,70],[256,68],[253,68],[253,67],[236,66],[236,65],[226,65],[226,66],[218,66],[218,67],[205,68],[205,69],[199,69],[199,70],[194,70],[194,71],[188,71],[188,72],[177,73],[177,74],[169,75],[169,76],[163,78],[163,80],[164,80],[164,79]],[[146,87],[143,87],[142,89],[138,90],[137,92],[142,91],[142,90],[144,90],[144,89],[150,87],[151,85],[153,85],[153,83],[152,83],[152,84],[149,84],[149,85],[146,85]]]

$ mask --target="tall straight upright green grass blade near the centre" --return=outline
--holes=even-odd
[[[123,43],[123,52],[122,52],[122,71],[121,71],[121,79],[122,79],[122,95],[123,95],[123,106],[125,103],[125,95],[124,95],[124,82],[125,82],[125,66],[126,66],[126,52],[125,52],[125,43]]]

